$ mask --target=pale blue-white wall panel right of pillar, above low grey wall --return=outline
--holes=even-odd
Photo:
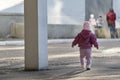
[[[85,0],[48,0],[48,24],[81,24]]]

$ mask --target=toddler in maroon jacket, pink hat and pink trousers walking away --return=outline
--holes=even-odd
[[[92,45],[98,49],[98,42],[95,34],[90,30],[90,24],[88,21],[85,21],[83,24],[83,30],[78,33],[75,39],[72,42],[72,47],[78,44],[80,50],[80,62],[81,67],[90,70],[92,64]],[[85,61],[86,59],[86,61]],[[86,63],[85,63],[86,62]]]

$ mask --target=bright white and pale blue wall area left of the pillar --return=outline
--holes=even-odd
[[[0,0],[0,13],[23,13],[24,0]]]

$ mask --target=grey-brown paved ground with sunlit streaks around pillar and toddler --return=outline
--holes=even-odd
[[[93,48],[90,71],[82,70],[78,48],[71,43],[49,43],[47,70],[24,71],[24,46],[0,46],[0,80],[120,80],[120,41],[99,42]]]

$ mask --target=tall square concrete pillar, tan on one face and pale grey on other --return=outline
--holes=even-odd
[[[25,70],[48,66],[47,0],[24,0]]]

